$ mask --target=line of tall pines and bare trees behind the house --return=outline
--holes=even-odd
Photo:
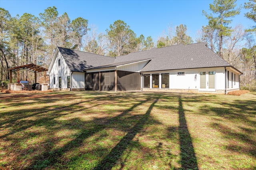
[[[244,6],[237,6],[236,0],[214,0],[210,4],[211,13],[202,11],[209,22],[198,31],[195,42],[206,41],[210,49],[243,72],[242,86],[256,89],[256,26],[230,26],[242,8],[248,10],[245,19],[256,22],[256,0],[248,0]],[[39,17],[27,13],[13,17],[0,8],[0,79],[8,81],[6,69],[14,66],[34,63],[48,68],[56,47],[116,57],[153,47],[190,43],[194,41],[187,35],[184,24],[168,27],[154,42],[150,36],[137,36],[122,20],[98,34],[95,26],[88,26],[88,20],[78,17],[71,21],[66,12],[59,15],[54,6]],[[33,80],[32,73],[27,71],[22,71],[21,78]]]

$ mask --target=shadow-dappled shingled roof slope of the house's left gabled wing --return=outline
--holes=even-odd
[[[57,48],[67,63],[70,71],[83,72],[83,70],[87,68],[110,64],[115,60],[114,57],[107,57],[104,55],[65,49],[62,47]]]

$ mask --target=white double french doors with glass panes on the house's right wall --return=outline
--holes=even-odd
[[[216,91],[216,73],[215,71],[200,71],[199,91]]]

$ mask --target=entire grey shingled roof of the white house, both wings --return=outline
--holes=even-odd
[[[57,48],[64,57],[70,70],[79,72],[149,59],[151,61],[142,68],[141,72],[231,66],[210,50],[205,42],[153,48],[116,58],[60,47]]]

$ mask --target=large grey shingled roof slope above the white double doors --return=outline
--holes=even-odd
[[[153,58],[141,72],[231,66],[209,49],[205,42],[174,45],[142,52],[140,52],[141,55],[140,53],[129,54],[132,58],[135,56]]]

